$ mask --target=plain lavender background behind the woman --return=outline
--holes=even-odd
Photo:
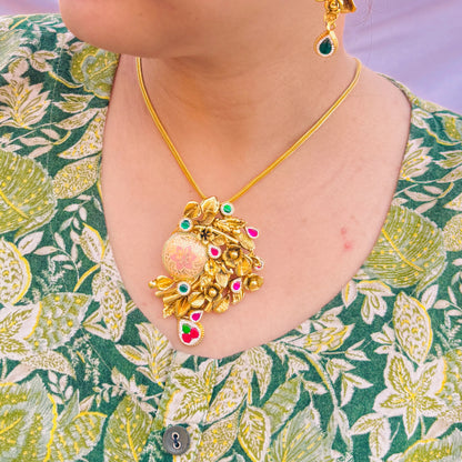
[[[346,50],[419,97],[462,113],[462,0],[355,1]],[[58,11],[58,0],[0,0],[0,14],[47,11]]]

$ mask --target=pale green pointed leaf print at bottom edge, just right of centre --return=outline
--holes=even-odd
[[[329,453],[327,440],[311,421],[309,409],[291,419],[270,448],[272,462],[321,462],[330,460]]]

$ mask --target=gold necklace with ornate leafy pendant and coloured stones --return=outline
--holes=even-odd
[[[202,199],[200,203],[188,202],[178,227],[163,247],[162,262],[170,277],[159,275],[149,282],[163,301],[163,317],[173,314],[177,318],[178,337],[184,345],[194,346],[203,339],[200,321],[204,312],[223,313],[230,304],[240,302],[247,291],[259,290],[263,284],[263,278],[258,274],[263,260],[254,253],[259,230],[233,217],[232,203],[320,129],[354,89],[361,68],[356,60],[351,83],[302,137],[231,199],[219,202],[215,197],[207,197],[201,191],[170,140],[148,96],[141,59],[137,58],[138,82],[144,103],[182,172]]]

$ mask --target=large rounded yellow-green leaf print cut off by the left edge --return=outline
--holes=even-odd
[[[32,159],[0,151],[0,234],[18,239],[48,223],[54,214],[52,182]]]

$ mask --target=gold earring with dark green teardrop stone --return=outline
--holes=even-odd
[[[325,31],[314,42],[314,51],[323,58],[331,57],[339,48],[339,40],[335,34],[335,21],[341,13],[352,13],[356,10],[353,0],[317,0],[323,1],[325,13]]]

